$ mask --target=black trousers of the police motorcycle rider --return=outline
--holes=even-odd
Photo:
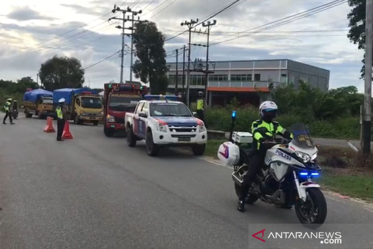
[[[257,173],[259,172],[261,166],[264,162],[264,157],[266,156],[266,149],[257,150],[253,153],[250,157],[249,164],[247,166],[247,173],[243,177],[243,182],[241,184],[241,193],[239,199],[245,201],[245,197],[247,196],[247,192],[249,191],[251,184],[255,180]]]

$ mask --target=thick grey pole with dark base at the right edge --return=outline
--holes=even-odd
[[[372,99],[372,54],[373,54],[373,0],[366,3],[365,23],[365,92],[363,117],[363,153],[370,153],[370,128],[372,126],[371,99]]]

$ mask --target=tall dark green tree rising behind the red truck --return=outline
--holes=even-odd
[[[168,79],[164,36],[154,22],[135,24],[135,56],[138,58],[132,69],[135,77],[150,84],[152,94],[166,93]]]

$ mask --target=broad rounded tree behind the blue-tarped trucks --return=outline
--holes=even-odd
[[[41,64],[39,76],[47,90],[79,88],[84,83],[84,69],[80,61],[73,57],[53,56]]]

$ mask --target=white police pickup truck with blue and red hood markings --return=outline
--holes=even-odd
[[[125,114],[127,144],[145,139],[149,156],[163,146],[189,146],[194,155],[203,155],[207,143],[204,123],[186,105],[170,100],[141,100],[134,113]]]

